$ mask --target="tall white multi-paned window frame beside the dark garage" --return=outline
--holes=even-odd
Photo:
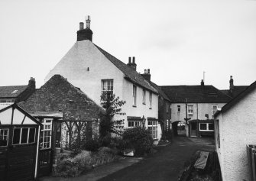
[[[51,118],[44,118],[42,121],[43,129],[41,130],[40,134],[40,149],[50,149],[51,148],[51,134],[52,134],[52,125],[53,119]],[[45,137],[49,137],[49,141],[44,141]],[[41,141],[41,138],[43,141]],[[49,143],[49,147],[45,147],[45,144]]]

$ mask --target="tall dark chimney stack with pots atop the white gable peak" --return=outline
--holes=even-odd
[[[79,23],[79,31],[76,32],[77,34],[77,41],[82,40],[90,40],[92,41],[92,30],[90,29],[91,19],[89,16],[86,16],[86,29],[83,27],[83,22]]]

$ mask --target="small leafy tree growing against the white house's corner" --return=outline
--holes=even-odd
[[[118,125],[122,124],[122,120],[112,120],[114,115],[125,115],[122,112],[122,105],[125,105],[125,101],[115,97],[112,92],[103,92],[101,95],[101,105],[105,109],[105,112],[101,113],[101,121],[99,122],[99,134],[100,137],[110,137],[112,133],[120,134]]]

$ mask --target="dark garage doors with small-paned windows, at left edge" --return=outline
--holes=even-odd
[[[37,126],[0,128],[0,180],[34,179]]]

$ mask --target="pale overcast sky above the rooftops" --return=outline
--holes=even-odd
[[[255,0],[0,1],[0,86],[37,88],[91,16],[92,41],[160,86],[256,80]]]

